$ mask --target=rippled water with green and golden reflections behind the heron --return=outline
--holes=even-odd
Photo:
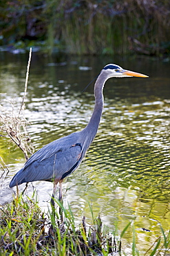
[[[1,105],[18,111],[23,95],[28,55],[1,53]],[[64,202],[70,203],[77,222],[100,216],[110,230],[118,234],[134,220],[136,244],[145,252],[156,241],[160,224],[165,232],[170,226],[169,184],[169,62],[143,57],[63,57],[57,63],[33,53],[28,83],[25,118],[36,149],[85,127],[94,107],[93,85],[82,93],[100,69],[114,62],[149,78],[112,78],[105,84],[105,108],[98,134],[85,161],[63,185]],[[82,68],[83,67],[83,68]],[[1,157],[10,172],[1,178],[0,203],[12,199],[10,179],[21,169],[25,159],[20,149],[1,137]],[[47,209],[52,184],[32,183],[39,204]],[[24,188],[21,185],[20,188]],[[28,194],[32,193],[32,185]],[[123,238],[128,255],[131,228]],[[129,244],[129,248],[127,246]],[[130,254],[129,254],[130,255]]]

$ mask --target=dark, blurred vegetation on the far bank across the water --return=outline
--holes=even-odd
[[[6,51],[32,47],[49,54],[170,53],[167,0],[2,0],[0,10],[0,47]]]

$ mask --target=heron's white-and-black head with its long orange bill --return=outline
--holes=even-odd
[[[136,73],[134,71],[125,70],[116,64],[107,64],[103,68],[103,71],[107,74],[107,79],[111,77],[148,77],[147,75]]]

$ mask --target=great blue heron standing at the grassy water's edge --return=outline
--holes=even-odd
[[[82,131],[52,141],[34,153],[23,168],[14,175],[10,188],[32,181],[54,181],[51,203],[54,205],[56,185],[59,183],[59,200],[62,199],[63,179],[81,164],[91,145],[103,111],[103,86],[111,77],[148,77],[127,71],[116,64],[106,65],[98,75],[94,85],[95,105],[89,123]]]

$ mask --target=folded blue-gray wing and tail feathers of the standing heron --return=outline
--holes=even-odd
[[[75,141],[77,136],[72,134],[39,149],[13,177],[10,188],[25,182],[64,179],[78,167],[83,158],[81,143]]]

